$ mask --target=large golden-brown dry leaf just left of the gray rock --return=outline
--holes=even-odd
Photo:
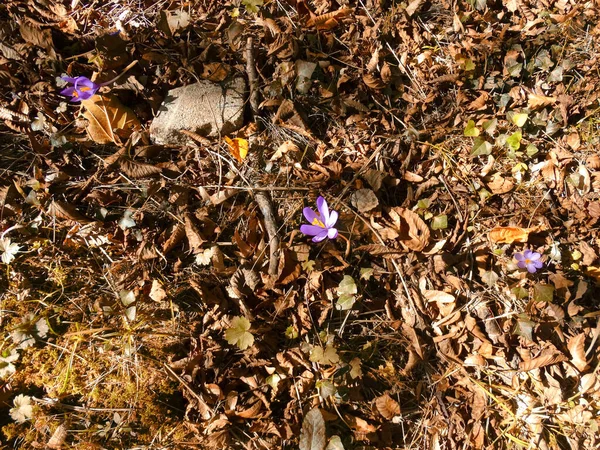
[[[121,104],[113,95],[94,95],[81,102],[85,108],[83,117],[88,120],[86,131],[98,144],[118,144],[134,130],[141,128],[132,110]]]

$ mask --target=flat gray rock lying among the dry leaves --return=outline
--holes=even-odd
[[[246,82],[238,77],[226,83],[202,80],[172,89],[150,125],[150,139],[157,144],[185,144],[180,130],[202,136],[229,134],[244,124]]]

